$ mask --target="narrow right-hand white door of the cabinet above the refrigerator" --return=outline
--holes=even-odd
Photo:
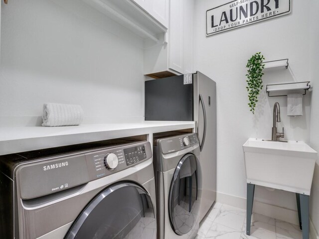
[[[183,74],[192,73],[192,59],[193,59],[193,11],[194,0],[184,0],[184,68]]]

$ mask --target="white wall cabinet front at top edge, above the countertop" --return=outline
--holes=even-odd
[[[166,29],[169,19],[169,0],[132,0],[154,17]]]

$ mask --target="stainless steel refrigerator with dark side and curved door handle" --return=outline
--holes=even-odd
[[[196,122],[202,220],[216,200],[216,83],[198,71],[146,81],[145,120]]]

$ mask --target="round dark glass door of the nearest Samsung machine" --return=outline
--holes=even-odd
[[[139,185],[106,188],[74,221],[65,239],[156,239],[155,207]]]

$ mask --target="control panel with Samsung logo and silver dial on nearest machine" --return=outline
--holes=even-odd
[[[41,197],[103,178],[152,155],[150,142],[138,141],[72,154],[66,152],[63,157],[21,165],[16,172],[21,198]]]

